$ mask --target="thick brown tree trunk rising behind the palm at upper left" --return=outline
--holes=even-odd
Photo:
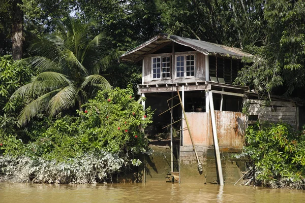
[[[23,45],[23,12],[18,4],[22,4],[22,0],[13,1],[12,55],[14,60],[22,58]]]

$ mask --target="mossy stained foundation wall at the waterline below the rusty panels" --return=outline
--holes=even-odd
[[[166,175],[171,171],[170,147],[150,146],[154,153],[147,157],[146,183],[166,182]],[[197,159],[193,147],[180,148],[180,182],[181,183],[217,183],[217,164],[213,147],[196,146],[203,172],[198,172]],[[245,160],[232,158],[232,154],[240,153],[241,149],[220,148],[221,163],[225,184],[234,184],[245,171]],[[176,152],[174,152],[175,154]],[[178,171],[177,157],[174,156],[174,171]]]

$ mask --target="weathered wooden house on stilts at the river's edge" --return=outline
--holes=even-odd
[[[142,65],[138,94],[146,97],[144,107],[155,110],[147,133],[165,140],[170,135],[171,142],[151,142],[145,182],[167,176],[181,183],[223,184],[241,177],[245,164],[231,155],[243,147],[248,117],[242,104],[250,91],[232,82],[243,56],[252,55],[161,33],[120,57]]]

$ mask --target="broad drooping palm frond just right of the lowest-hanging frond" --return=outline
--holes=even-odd
[[[74,85],[69,85],[54,95],[48,106],[50,115],[54,116],[57,112],[73,107],[77,100],[77,90]]]

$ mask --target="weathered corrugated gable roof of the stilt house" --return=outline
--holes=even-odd
[[[222,56],[228,56],[233,58],[241,58],[243,56],[252,56],[249,53],[241,51],[241,49],[234,47],[227,47],[224,45],[209,43],[200,40],[194,40],[190,38],[184,38],[174,35],[167,35],[160,33],[158,36],[151,38],[147,42],[127,51],[125,54],[120,56],[121,60],[138,61],[144,54],[151,54],[158,50],[158,47],[163,47],[164,43],[175,42],[180,45],[190,47],[205,55],[220,54]]]

